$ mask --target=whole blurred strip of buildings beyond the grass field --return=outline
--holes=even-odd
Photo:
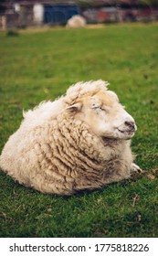
[[[72,16],[85,24],[158,20],[158,0],[1,0],[0,30],[65,26]]]

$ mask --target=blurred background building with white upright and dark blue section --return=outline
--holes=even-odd
[[[65,25],[74,15],[79,15],[79,5],[75,1],[4,1],[0,5],[0,28]]]

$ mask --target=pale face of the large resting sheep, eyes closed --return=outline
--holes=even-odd
[[[77,105],[79,117],[102,138],[128,140],[137,130],[132,116],[124,110],[112,91],[87,96]]]

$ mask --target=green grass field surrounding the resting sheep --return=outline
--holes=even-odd
[[[158,27],[0,34],[0,150],[22,110],[79,80],[108,80],[134,117],[138,176],[72,197],[43,195],[0,172],[0,237],[158,236]],[[16,152],[15,152],[16,154]]]

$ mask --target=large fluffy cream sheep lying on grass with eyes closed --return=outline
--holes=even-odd
[[[129,178],[137,130],[108,82],[72,85],[65,96],[24,112],[0,156],[0,167],[42,193],[72,195]]]

